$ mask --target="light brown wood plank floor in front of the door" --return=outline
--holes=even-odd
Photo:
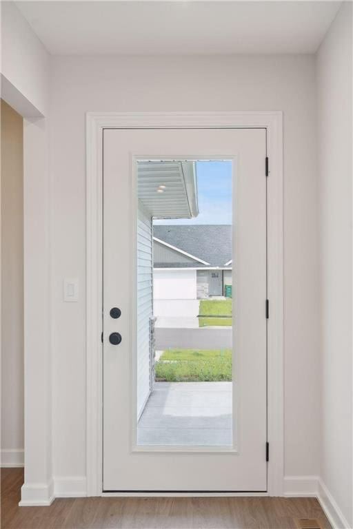
[[[1,529],[295,529],[319,519],[314,498],[77,498],[50,507],[19,507],[23,470],[1,470]]]

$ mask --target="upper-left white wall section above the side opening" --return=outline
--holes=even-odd
[[[1,97],[22,116],[47,115],[49,59],[14,2],[1,2]]]

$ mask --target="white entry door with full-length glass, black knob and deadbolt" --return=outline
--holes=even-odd
[[[267,489],[265,134],[265,129],[104,130],[103,491]],[[225,160],[232,171],[233,300],[224,300],[228,313],[220,314],[227,321],[212,326],[219,315],[214,308],[202,324],[196,311],[179,329],[168,322],[159,329],[153,318],[153,219],[201,219],[200,164],[212,160]],[[221,173],[211,180],[216,196]],[[224,246],[215,251],[219,241],[212,234],[219,228],[209,224],[209,250],[216,260]],[[212,269],[211,257],[201,256],[208,249],[201,248],[200,238],[187,248],[188,233],[177,239],[177,231],[163,229],[159,260],[169,260],[173,273],[195,263]],[[168,239],[172,236],[177,242]],[[182,266],[173,268],[176,260]],[[229,256],[223,260],[229,267]],[[196,298],[196,271],[194,282]],[[184,288],[179,285],[177,293]],[[172,301],[175,307],[199,303]],[[208,301],[202,300],[203,307]],[[163,340],[170,338],[168,351],[156,351],[161,330]],[[196,352],[178,342],[188,343],[189,335],[203,344]],[[170,382],[162,371],[174,369],[177,361],[167,353],[179,354],[182,370],[188,355],[203,357],[201,378]],[[225,371],[231,365],[231,375],[210,377],[214,364]]]

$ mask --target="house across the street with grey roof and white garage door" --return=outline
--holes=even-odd
[[[197,315],[232,285],[231,225],[155,225],[154,315]],[[195,313],[196,312],[196,313]]]

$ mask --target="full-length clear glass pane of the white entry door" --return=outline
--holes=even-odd
[[[138,445],[233,445],[233,179],[137,161]]]

